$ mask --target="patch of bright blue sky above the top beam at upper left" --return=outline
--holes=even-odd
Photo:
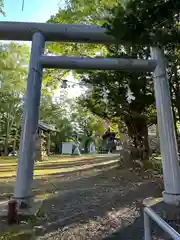
[[[6,16],[0,16],[0,21],[46,22],[51,15],[63,6],[63,0],[4,0]]]

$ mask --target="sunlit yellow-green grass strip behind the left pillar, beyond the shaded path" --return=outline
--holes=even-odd
[[[97,158],[100,161],[96,162]],[[53,156],[37,162],[34,169],[33,195],[41,199],[52,197],[53,192],[57,191],[56,181],[59,176],[76,172],[80,174],[82,170],[91,171],[94,167],[113,165],[118,162],[116,158],[108,155]],[[16,168],[16,158],[0,158],[0,200],[8,200],[12,196]]]

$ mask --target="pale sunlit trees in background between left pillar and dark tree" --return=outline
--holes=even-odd
[[[53,95],[45,93],[41,97],[40,120],[56,127],[56,133],[51,133],[53,144],[80,141],[85,152],[88,152],[91,141],[100,144],[105,132],[104,120],[82,108],[75,99],[59,98],[55,101]]]

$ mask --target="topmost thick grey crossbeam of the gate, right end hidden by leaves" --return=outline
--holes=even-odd
[[[83,24],[54,24],[31,22],[0,22],[0,39],[31,41],[41,32],[45,41],[112,44],[116,40],[106,34],[106,29]]]

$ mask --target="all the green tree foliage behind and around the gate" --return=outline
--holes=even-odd
[[[118,44],[48,43],[48,54],[149,59],[149,46],[162,45],[169,61],[167,70],[177,123],[180,120],[179,9],[177,0],[67,0],[48,22],[104,26]],[[7,153],[9,146],[19,144],[29,49],[14,43],[1,44],[0,54],[0,141],[2,151]],[[87,148],[88,141],[100,139],[105,131],[104,121],[108,119],[129,134],[136,148],[149,151],[148,127],[156,124],[151,74],[73,71],[73,76],[88,90],[78,101],[69,100],[65,90],[62,97],[55,99],[54,90],[60,89],[59,82],[68,74],[69,70],[44,70],[40,120],[56,127],[54,142],[79,138]]]

